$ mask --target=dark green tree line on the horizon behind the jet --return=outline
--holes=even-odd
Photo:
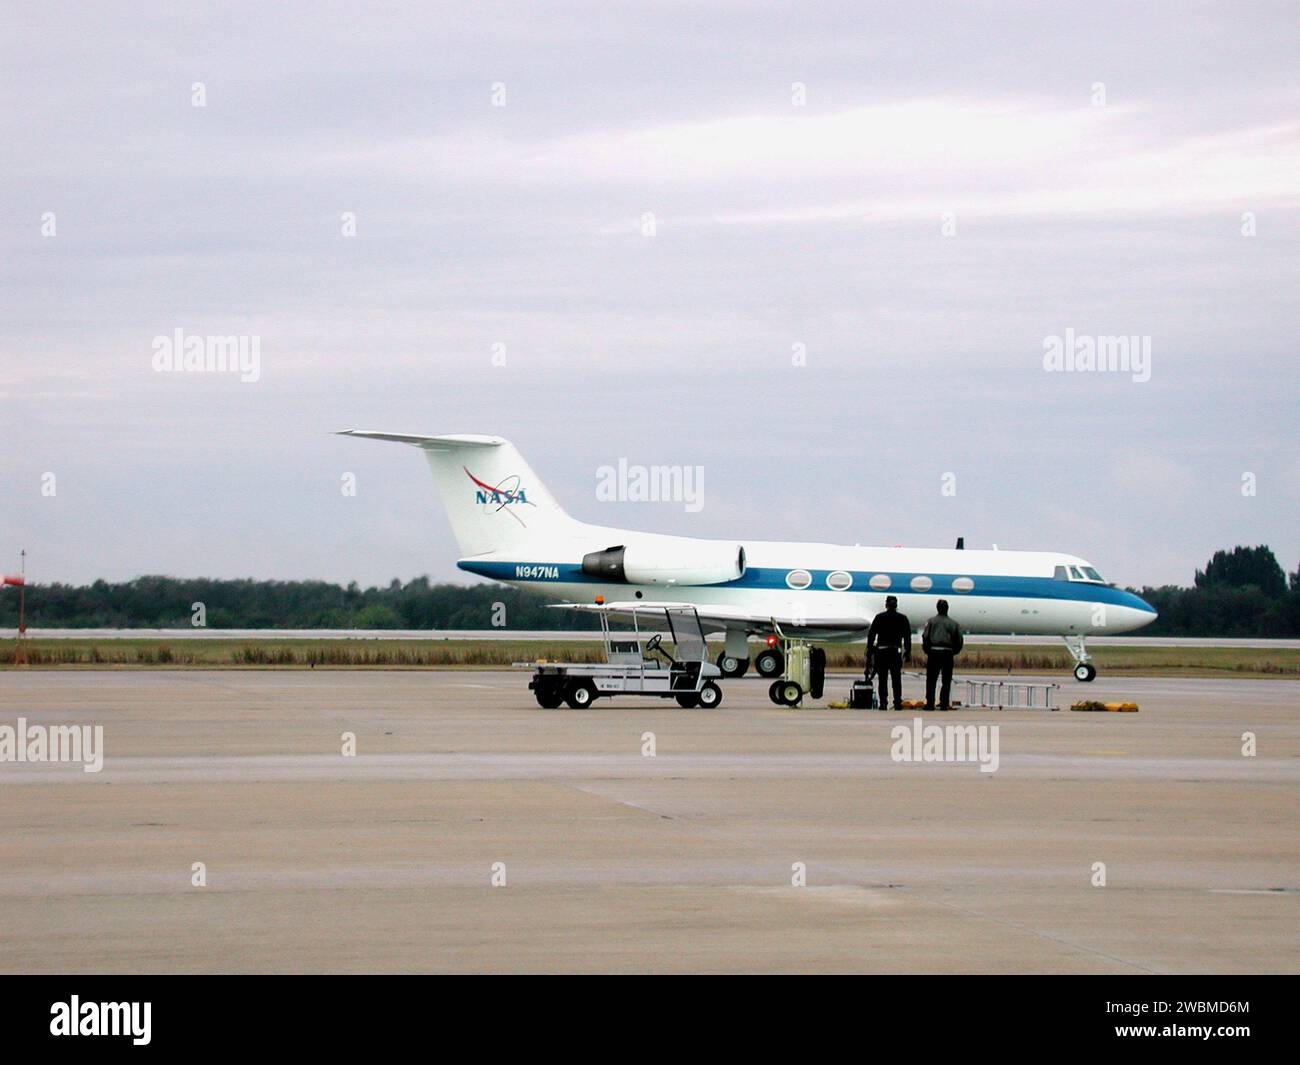
[[[1300,637],[1300,568],[1287,575],[1268,546],[1216,551],[1191,588],[1130,589],[1160,618],[1141,636]],[[31,628],[188,628],[202,603],[207,628],[589,629],[586,614],[552,610],[536,593],[506,585],[385,588],[328,581],[136,577],[87,585],[27,586]],[[18,624],[16,588],[0,593],[0,627]]]

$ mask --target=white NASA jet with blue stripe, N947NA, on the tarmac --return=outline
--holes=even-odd
[[[1084,640],[1153,622],[1141,598],[1057,551],[841,547],[766,540],[697,540],[589,525],[569,518],[519,451],[500,437],[374,433],[411,443],[433,471],[462,570],[571,601],[576,609],[690,603],[725,631],[724,676],[784,670],[780,637],[863,640],[887,594],[913,619],[946,598],[968,633],[1061,636],[1079,680],[1097,671]],[[593,607],[593,603],[601,603]]]

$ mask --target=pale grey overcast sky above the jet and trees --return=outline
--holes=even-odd
[[[0,570],[464,580],[343,428],[656,532],[1300,562],[1294,4],[146,8],[4,7]]]

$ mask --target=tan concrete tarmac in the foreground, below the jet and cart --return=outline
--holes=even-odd
[[[0,970],[1300,971],[1295,681],[950,715],[525,681],[6,672],[0,727],[103,726],[104,765],[0,763]],[[914,718],[996,724],[997,770],[894,761]]]

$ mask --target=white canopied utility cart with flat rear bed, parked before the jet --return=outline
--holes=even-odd
[[[521,663],[533,670],[528,688],[543,710],[555,710],[562,702],[585,710],[604,696],[675,698],[680,706],[705,710],[722,703],[723,690],[715,680],[722,670],[708,661],[696,607],[610,603],[576,609],[599,612],[604,662]],[[611,631],[611,614],[630,615],[632,631]],[[642,632],[642,622],[666,628],[671,653],[663,645],[664,633]]]

